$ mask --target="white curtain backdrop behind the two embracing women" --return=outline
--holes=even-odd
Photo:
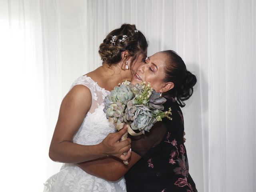
[[[58,172],[48,147],[60,102],[122,23],[198,78],[182,109],[198,192],[255,192],[256,0],[0,0],[3,191],[42,191]]]

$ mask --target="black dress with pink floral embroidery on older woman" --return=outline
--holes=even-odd
[[[165,119],[162,126],[155,125],[148,136],[138,140],[131,137],[132,150],[142,158],[125,175],[127,192],[197,192],[188,172],[183,115],[174,98],[164,104],[165,109],[169,107],[172,120]],[[150,142],[157,144],[148,149]]]

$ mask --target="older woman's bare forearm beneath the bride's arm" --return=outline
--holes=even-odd
[[[77,165],[85,172],[104,178],[109,181],[119,180],[126,172],[140,160],[141,156],[135,152],[131,152],[129,164],[125,165],[122,161],[115,157],[105,157],[88,162],[78,163]]]

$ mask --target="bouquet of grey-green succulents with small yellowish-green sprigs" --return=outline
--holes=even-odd
[[[104,112],[110,122],[113,122],[117,130],[128,124],[130,135],[144,134],[149,132],[157,121],[162,118],[170,118],[171,109],[163,112],[166,99],[156,92],[148,83],[133,85],[125,81],[116,86],[104,100]],[[134,132],[136,131],[136,132]],[[121,140],[127,139],[128,132]],[[128,161],[124,161],[128,164]]]

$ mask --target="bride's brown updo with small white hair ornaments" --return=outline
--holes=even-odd
[[[122,24],[110,32],[100,44],[99,54],[103,63],[111,66],[122,60],[122,52],[127,50],[132,56],[131,63],[139,54],[146,58],[148,42],[145,36],[136,29],[135,25]]]

